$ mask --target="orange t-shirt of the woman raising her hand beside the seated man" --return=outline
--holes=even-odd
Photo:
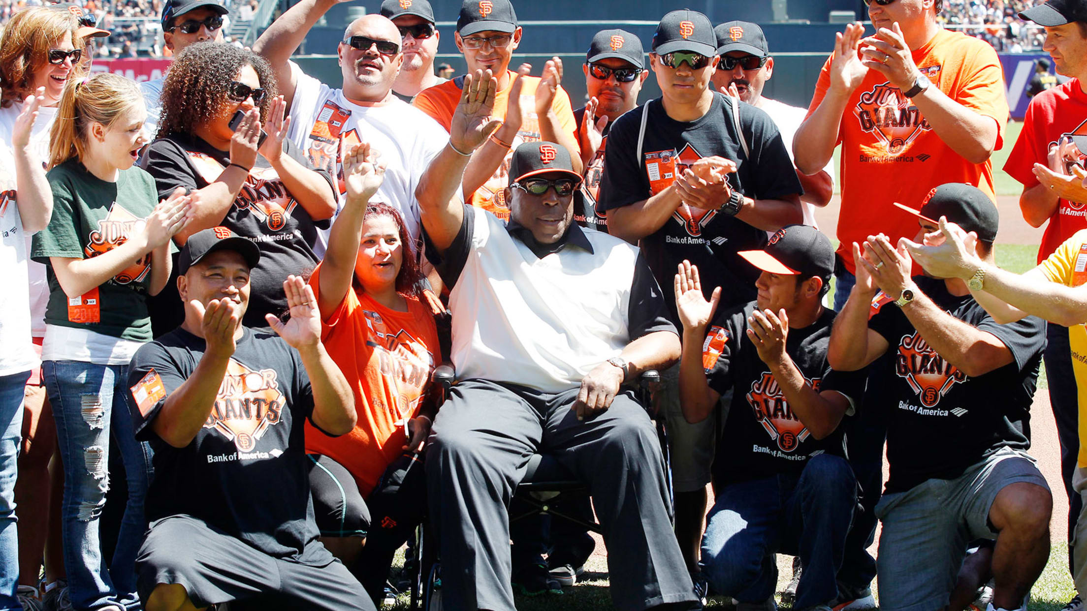
[[[320,294],[321,265],[310,285]],[[435,367],[438,331],[430,308],[408,297],[396,312],[352,288],[328,316],[321,340],[354,389],[358,423],[347,435],[329,437],[305,423],[305,451],[324,454],[354,476],[365,497],[385,470],[403,453],[404,422],[418,413]]]

